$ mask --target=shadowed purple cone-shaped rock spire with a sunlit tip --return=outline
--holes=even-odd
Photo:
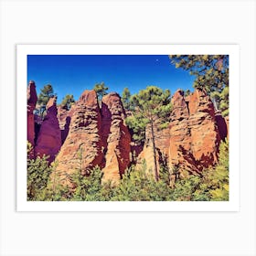
[[[55,159],[61,146],[56,100],[56,97],[53,97],[48,101],[46,106],[47,114],[41,124],[35,146],[35,154],[39,156],[49,155],[49,163]]]

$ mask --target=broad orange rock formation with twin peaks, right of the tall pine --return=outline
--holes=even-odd
[[[218,161],[220,136],[213,103],[201,90],[195,90],[188,101],[176,91],[172,103],[169,164],[200,174]]]

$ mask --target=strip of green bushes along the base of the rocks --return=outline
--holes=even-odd
[[[55,165],[48,165],[47,156],[27,157],[27,200],[46,201],[228,201],[229,200],[229,143],[221,142],[219,164],[206,169],[203,176],[177,176],[169,185],[169,170],[161,165],[159,179],[147,173],[146,165],[132,165],[119,185],[102,182],[99,166],[86,176],[77,172],[71,176],[74,189],[61,185],[55,175]],[[27,154],[31,150],[28,146]],[[58,163],[57,163],[58,165]],[[179,170],[176,170],[178,173]]]

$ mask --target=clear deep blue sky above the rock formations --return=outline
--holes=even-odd
[[[35,80],[37,95],[46,84],[51,84],[58,102],[66,94],[78,100],[82,91],[91,90],[103,81],[109,92],[122,94],[128,87],[131,93],[148,85],[193,91],[194,77],[171,65],[167,55],[28,55],[27,83]]]

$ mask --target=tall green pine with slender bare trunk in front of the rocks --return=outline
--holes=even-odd
[[[134,94],[131,99],[134,111],[133,115],[126,119],[126,123],[133,130],[133,139],[143,141],[146,127],[149,128],[149,140],[153,144],[155,180],[158,180],[157,170],[155,129],[163,129],[170,120],[171,102],[170,91],[148,86],[145,90]]]

